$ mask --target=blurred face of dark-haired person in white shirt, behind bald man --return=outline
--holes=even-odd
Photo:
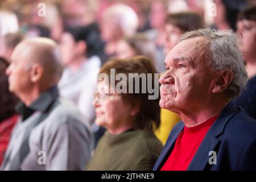
[[[64,32],[60,37],[60,51],[64,65],[70,64],[77,56],[75,39],[68,32]]]

